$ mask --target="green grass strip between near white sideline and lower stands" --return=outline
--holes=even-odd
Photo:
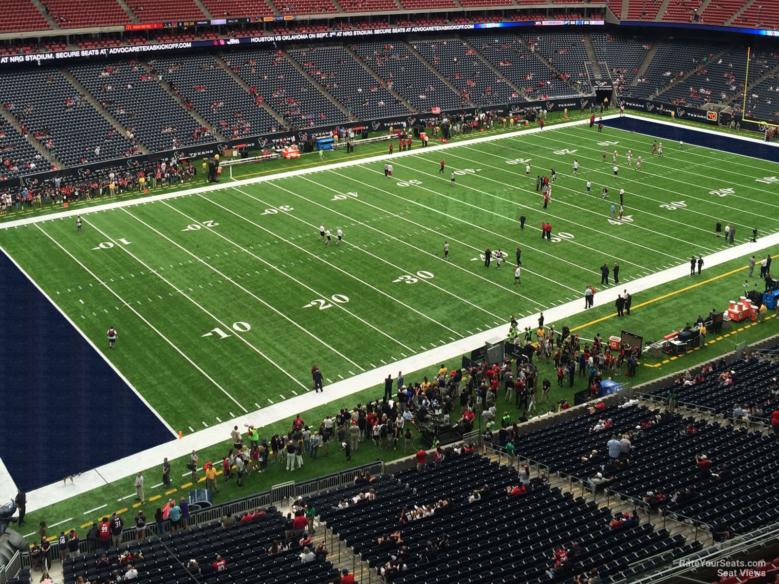
[[[764,252],[764,250],[756,250],[758,255],[762,255]],[[731,297],[734,297],[738,293],[747,270],[748,268],[745,264],[745,260],[736,259],[732,262],[717,266],[717,269],[704,272],[701,279],[696,278],[692,283],[688,283],[686,280],[677,280],[664,284],[663,286],[646,290],[640,297],[635,298],[631,316],[625,318],[629,322],[633,322],[640,318],[642,322],[645,323],[640,327],[640,331],[637,331],[643,333],[645,339],[659,338],[670,332],[671,329],[678,329],[684,325],[686,320],[693,320],[699,312],[707,311],[711,308],[709,304],[721,308],[731,299]],[[706,297],[706,304],[702,304],[701,301],[701,296],[703,294],[705,294]],[[664,304],[663,302],[663,300],[671,298],[675,306],[675,314],[679,317],[676,319],[668,318],[668,304]],[[619,325],[622,325],[622,322],[618,321],[616,312],[611,305],[598,306],[596,304],[596,306],[589,311],[576,315],[574,318],[566,319],[565,323],[557,322],[554,324],[555,329],[561,329],[563,324],[568,324],[573,332],[576,332],[582,337],[587,337],[594,335],[596,332],[601,332],[602,336],[608,336],[610,333],[619,334]],[[710,336],[705,346],[690,351],[688,354],[683,354],[678,358],[663,358],[657,361],[644,358],[637,371],[634,384],[649,382],[675,371],[680,371],[683,368],[694,368],[697,365],[720,357],[722,354],[726,354],[733,350],[733,346],[737,342],[748,344],[756,343],[777,332],[779,332],[779,320],[777,320],[774,315],[769,315],[766,322],[762,325],[750,323],[746,325],[742,332],[738,332],[735,335],[733,332],[727,332],[725,335],[721,336],[721,338]],[[435,374],[435,369],[437,368],[433,367],[422,371],[405,373],[404,375],[407,381],[417,381],[421,380],[424,375]],[[576,377],[573,389],[567,387],[562,389],[558,388],[554,382],[553,365],[541,365],[539,367],[539,372],[540,377],[546,376],[552,380],[552,392],[550,397],[550,403],[552,404],[556,403],[559,399],[573,400],[574,392],[585,389],[586,378],[580,378],[578,376]],[[623,379],[620,377],[616,378],[618,381]],[[349,399],[340,400],[337,403],[302,412],[301,416],[307,423],[309,420],[314,420],[315,423],[318,424],[319,420],[322,420],[327,414],[336,413],[341,407],[351,407],[357,403],[367,403],[368,399],[379,398],[382,395],[382,392],[383,386],[381,384],[375,385],[372,388],[365,389],[364,391],[350,396]],[[519,417],[520,411],[517,410],[513,404],[506,406],[501,392],[499,392],[498,398],[499,409],[503,409],[505,406],[505,409],[509,411],[513,419]],[[457,406],[456,412],[459,413],[459,406]],[[453,413],[453,417],[455,417],[455,415],[456,413]],[[268,438],[276,433],[286,433],[290,427],[291,420],[284,420],[277,424],[263,427],[261,429],[261,435]],[[420,438],[418,434],[414,432],[414,448],[418,448],[420,444]],[[224,442],[200,451],[200,460],[219,460],[226,454],[227,449],[230,448],[231,441],[229,437],[226,437]],[[521,446],[519,452],[521,452]],[[284,480],[309,480],[337,470],[344,470],[345,468],[358,464],[370,463],[377,458],[390,461],[402,456],[404,456],[402,447],[397,451],[382,450],[376,448],[372,442],[364,442],[358,451],[352,452],[352,461],[347,463],[344,453],[340,450],[332,449],[330,456],[324,457],[323,451],[320,449],[319,459],[317,459],[317,461],[314,462],[311,459],[305,458],[302,469],[295,470],[293,473],[287,473],[287,471],[284,470],[284,465],[282,463],[270,463],[266,473],[261,475],[253,474],[252,476],[245,478],[245,486],[242,488],[237,487],[234,481],[225,484],[219,479],[220,482],[218,484],[220,491],[214,496],[214,501],[220,503],[230,501],[234,498],[241,498],[251,492],[265,491],[273,484],[278,484]],[[189,459],[183,458],[171,461],[171,478],[173,480],[174,490],[166,491],[164,487],[157,487],[156,489],[150,487],[146,488],[146,504],[143,505],[143,509],[144,512],[146,512],[147,519],[151,519],[157,506],[164,504],[164,501],[167,501],[167,498],[186,496],[190,489],[203,487],[202,471],[199,472],[199,483],[191,484],[191,481],[189,480],[189,471],[185,469],[185,465],[188,462]],[[161,463],[162,461],[160,461],[159,466],[143,470],[147,485],[156,484],[160,481]],[[29,531],[37,530],[37,525],[41,521],[47,522],[49,526],[62,522],[56,529],[76,529],[76,532],[79,533],[79,537],[84,537],[93,521],[103,515],[110,515],[111,512],[114,511],[122,512],[125,515],[125,523],[129,525],[132,523],[132,516],[134,515],[135,509],[141,506],[137,505],[133,499],[133,478],[134,474],[129,473],[128,477],[124,480],[116,481],[88,493],[69,498],[55,505],[29,513],[26,516],[26,523],[30,527],[29,529],[21,529],[21,533],[27,534]],[[76,480],[78,480],[77,477]],[[12,526],[12,528],[14,528],[14,526]],[[55,533],[55,530],[50,529],[50,533]],[[30,542],[33,539],[34,537],[28,538]],[[51,536],[49,539],[54,540],[55,535]]]

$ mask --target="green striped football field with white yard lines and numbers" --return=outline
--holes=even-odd
[[[578,300],[604,287],[604,262],[609,286],[619,264],[619,287],[691,255],[705,266],[726,245],[717,220],[738,243],[753,227],[779,230],[777,164],[679,142],[658,157],[653,140],[580,124],[395,154],[392,177],[382,160],[223,178],[219,190],[89,209],[81,232],[73,216],[3,228],[0,245],[188,434],[305,394],[313,363],[327,385]],[[543,209],[535,178],[552,167]],[[485,266],[486,248],[505,256],[500,268]]]

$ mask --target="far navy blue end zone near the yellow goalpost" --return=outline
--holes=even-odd
[[[682,140],[682,142],[693,144],[694,146],[703,146],[703,148],[713,148],[714,150],[722,150],[734,154],[744,154],[753,158],[762,158],[769,162],[779,162],[779,147],[765,142],[732,138],[721,132],[700,132],[700,130],[687,128],[679,124],[658,124],[651,120],[627,116],[624,118],[605,119],[603,125],[619,128],[620,130],[633,130],[659,139],[675,141],[675,144],[666,145],[665,150],[668,152],[671,152],[679,145],[679,140]],[[600,137],[600,134],[598,136]],[[651,147],[650,138],[650,142],[647,142],[647,149],[651,149]],[[760,176],[756,175],[755,178],[760,178]]]

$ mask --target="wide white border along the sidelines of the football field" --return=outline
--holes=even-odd
[[[604,116],[604,119],[618,117],[619,114],[610,114]],[[627,114],[626,114],[627,115]],[[629,116],[636,119],[647,120],[643,116]],[[547,129],[559,129],[567,128],[573,125],[586,124],[587,121],[577,120],[564,122],[560,125],[554,125]],[[668,121],[655,121],[655,123],[662,123],[666,125],[675,125]],[[713,135],[721,135],[720,132],[709,130],[706,128],[689,128],[691,131],[709,133]],[[436,144],[435,150],[442,150],[449,147],[456,147],[463,144],[475,144],[481,142],[490,142],[493,140],[499,140],[504,138],[514,137],[516,135],[522,135],[525,133],[541,132],[541,128],[532,128],[530,130],[517,130],[516,132],[503,132],[497,135],[480,136],[475,139],[467,141],[449,142],[446,144]],[[622,130],[621,130],[622,131]],[[729,136],[736,139],[749,138],[742,136]],[[394,153],[391,157],[388,154],[382,154],[375,157],[368,157],[357,160],[348,160],[341,163],[326,164],[323,166],[317,166],[306,169],[297,169],[294,171],[284,171],[277,174],[270,174],[266,177],[256,177],[249,179],[242,179],[239,181],[232,181],[225,183],[224,185],[208,185],[199,188],[192,188],[185,191],[172,192],[159,195],[151,195],[139,199],[127,199],[124,201],[108,202],[104,205],[87,207],[86,209],[68,209],[55,215],[45,215],[36,217],[26,217],[21,220],[15,220],[0,225],[0,234],[2,229],[8,229],[10,227],[19,227],[23,225],[29,225],[31,223],[39,223],[42,221],[62,219],[65,216],[75,216],[79,214],[86,215],[87,213],[95,213],[103,211],[105,209],[116,209],[125,206],[133,206],[142,204],[144,202],[153,202],[165,199],[174,199],[176,197],[191,195],[195,192],[210,192],[220,190],[222,188],[231,188],[241,185],[252,185],[263,181],[275,180],[278,178],[286,178],[291,176],[297,176],[300,174],[311,174],[323,170],[333,170],[337,168],[351,167],[355,165],[383,162],[391,160],[392,158],[404,157],[418,153],[418,150]],[[762,159],[761,159],[762,160]],[[770,161],[769,161],[770,162]],[[706,258],[707,270],[718,266],[724,262],[729,262],[733,259],[737,259],[741,255],[749,255],[754,249],[764,249],[770,246],[779,245],[779,233],[770,234],[766,237],[760,237],[756,244],[751,242],[745,242],[740,245],[735,245],[730,248],[725,248],[720,252],[708,255]],[[16,263],[16,262],[14,262]],[[629,283],[620,284],[617,287],[608,288],[607,290],[601,290],[596,295],[598,305],[611,304],[615,301],[618,294],[623,289],[630,291],[633,296],[640,293],[643,290],[648,290],[652,287],[678,280],[682,276],[689,275],[689,264],[684,262],[679,266],[664,269],[661,272],[652,273],[649,276],[643,276],[632,280]],[[29,276],[28,276],[29,277]],[[694,281],[694,280],[693,280]],[[49,298],[51,301],[51,298]],[[581,302],[583,298],[577,298],[575,301],[569,301],[566,304],[560,304],[554,308],[549,308],[545,311],[545,318],[547,322],[556,322],[565,318],[569,318],[583,311]],[[54,304],[52,302],[52,304]],[[56,304],[55,304],[56,305]],[[530,326],[534,328],[537,324],[537,315],[530,315],[520,319],[520,327]],[[407,357],[400,361],[386,364],[381,368],[376,368],[373,371],[365,371],[354,377],[344,379],[339,382],[335,382],[325,387],[325,391],[322,393],[311,394],[310,392],[301,396],[296,396],[290,399],[286,399],[283,402],[275,403],[272,406],[268,406],[255,412],[247,413],[241,417],[237,417],[231,420],[227,420],[221,424],[208,427],[206,429],[197,431],[192,434],[186,435],[180,440],[174,440],[164,443],[162,445],[147,449],[143,452],[137,452],[131,456],[126,456],[123,459],[119,459],[113,463],[108,463],[104,466],[100,466],[97,469],[89,470],[78,477],[76,477],[75,484],[54,483],[45,487],[40,487],[27,493],[27,511],[33,512],[38,509],[44,508],[48,505],[53,505],[60,501],[64,501],[67,498],[71,498],[77,494],[83,494],[87,491],[91,491],[94,488],[101,487],[104,484],[111,483],[115,480],[121,480],[123,478],[128,479],[126,487],[127,492],[132,492],[132,479],[130,475],[138,470],[149,469],[153,466],[160,465],[163,457],[167,456],[168,459],[176,459],[181,456],[185,456],[192,452],[193,449],[208,448],[211,445],[215,445],[219,442],[224,442],[229,438],[230,430],[238,424],[255,424],[262,427],[267,424],[273,424],[279,420],[284,420],[287,417],[294,416],[295,413],[309,410],[316,406],[325,405],[337,399],[343,399],[351,395],[354,392],[367,389],[374,385],[379,385],[387,374],[396,375],[397,371],[418,371],[425,367],[429,367],[432,364],[446,363],[456,357],[460,357],[462,354],[466,354],[468,351],[473,350],[474,347],[481,346],[483,343],[490,339],[494,339],[495,336],[505,336],[507,332],[508,320],[506,324],[497,326],[493,329],[479,332],[478,334],[459,339],[453,343],[447,343],[441,347],[436,347],[432,350],[427,350],[423,353],[416,354],[412,357]],[[77,327],[76,327],[77,328]],[[206,461],[203,461],[206,462]],[[0,461],[2,464],[2,461]],[[8,481],[4,481],[4,476],[7,475],[7,470],[0,466],[0,487],[4,484],[9,484]],[[8,477],[10,480],[10,477]],[[154,480],[147,477],[147,480]],[[12,481],[11,481],[12,484]],[[122,493],[123,494],[123,493]],[[3,495],[4,496],[4,495]]]

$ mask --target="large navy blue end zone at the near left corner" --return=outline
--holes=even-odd
[[[17,487],[31,491],[174,438],[2,252],[0,298],[0,459]]]

